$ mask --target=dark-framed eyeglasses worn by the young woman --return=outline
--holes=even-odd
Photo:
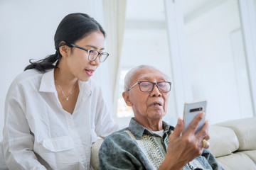
[[[96,60],[96,58],[99,56],[99,61],[100,62],[105,62],[105,60],[109,56],[109,53],[107,53],[107,52],[98,52],[97,50],[88,50],[88,49],[86,49],[84,47],[80,47],[80,46],[75,45],[75,44],[70,44],[68,46],[77,47],[77,48],[79,48],[81,50],[87,51],[88,52],[88,60],[90,60],[90,61]]]

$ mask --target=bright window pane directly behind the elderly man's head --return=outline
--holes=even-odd
[[[122,98],[124,76],[129,69],[140,64],[149,64],[171,77],[167,38],[164,1],[127,1],[117,115],[115,116],[121,125],[128,125],[130,118],[134,115],[132,108],[126,106]],[[170,106],[170,112],[171,108],[174,107]]]

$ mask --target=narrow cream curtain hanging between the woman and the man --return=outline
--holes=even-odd
[[[119,81],[119,61],[122,52],[124,38],[124,23],[126,0],[103,1],[105,30],[107,32],[107,59],[110,70],[110,86],[112,90],[112,109],[116,113],[117,108],[117,86]]]

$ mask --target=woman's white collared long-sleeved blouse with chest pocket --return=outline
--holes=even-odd
[[[5,103],[4,156],[9,169],[90,169],[97,136],[118,130],[92,79],[78,81],[73,114],[58,100],[53,69],[29,69],[11,84]]]

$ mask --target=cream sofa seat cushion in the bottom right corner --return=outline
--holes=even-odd
[[[252,159],[242,152],[218,157],[217,161],[225,170],[256,169],[256,165],[252,162]]]

